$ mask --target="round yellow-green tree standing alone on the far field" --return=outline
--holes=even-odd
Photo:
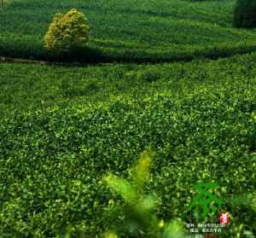
[[[66,15],[56,14],[44,37],[45,47],[55,53],[75,53],[86,48],[89,27],[77,9]]]

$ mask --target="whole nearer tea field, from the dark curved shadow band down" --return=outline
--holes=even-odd
[[[220,186],[218,196],[225,201],[222,209],[232,215],[227,237],[243,234],[243,230],[255,233],[253,206],[230,201],[237,194],[255,194],[255,57],[152,67],[102,66],[105,71],[102,67],[78,71],[70,67],[0,65],[2,84],[8,81],[6,75],[23,72],[30,75],[21,74],[24,87],[36,89],[41,85],[39,102],[44,98],[43,91],[51,89],[58,95],[53,86],[57,78],[61,80],[61,73],[69,72],[70,82],[84,77],[94,82],[97,78],[100,84],[105,80],[106,87],[91,103],[91,95],[73,96],[64,104],[60,100],[57,106],[22,110],[16,104],[18,108],[3,113],[1,234],[52,237],[64,234],[68,225],[77,236],[102,234],[113,223],[104,212],[108,201],[122,202],[102,184],[102,175],[113,171],[129,177],[129,168],[145,148],[155,152],[147,188],[162,199],[157,211],[160,218],[191,222],[186,207],[195,195],[193,185],[210,179]],[[156,81],[137,76],[152,68],[154,73],[162,73]],[[47,76],[40,84],[29,84],[43,73]],[[142,79],[131,81],[137,88],[134,94],[127,87],[119,93],[117,90],[106,102],[101,95],[114,82],[127,81],[127,75]],[[19,90],[14,92],[19,96]],[[41,103],[36,102],[36,96],[26,95],[34,98],[36,105]],[[26,100],[20,97],[21,103]]]

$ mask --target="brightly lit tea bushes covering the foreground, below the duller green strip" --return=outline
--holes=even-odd
[[[110,227],[111,219],[103,218],[109,201],[124,202],[102,185],[102,174],[129,177],[127,168],[148,147],[156,154],[145,191],[162,198],[158,217],[192,222],[185,212],[193,185],[210,178],[234,217],[228,237],[242,233],[236,230],[241,224],[255,232],[253,209],[229,205],[233,195],[255,189],[254,102],[254,92],[245,94],[244,88],[212,87],[184,96],[155,93],[137,101],[75,103],[4,116],[1,234],[52,237],[68,224],[75,237],[102,234]]]

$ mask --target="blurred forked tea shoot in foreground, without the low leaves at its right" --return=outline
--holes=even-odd
[[[108,186],[125,200],[121,214],[118,214],[124,217],[121,222],[110,214],[110,218],[114,221],[114,229],[120,235],[130,233],[132,237],[138,237],[143,232],[145,237],[149,237],[148,235],[155,235],[157,231],[157,218],[152,213],[157,201],[153,196],[143,193],[143,183],[149,172],[149,161],[148,153],[143,152],[131,183],[112,174],[104,178]]]

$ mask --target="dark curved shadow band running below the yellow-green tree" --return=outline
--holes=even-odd
[[[0,62],[23,62],[23,63],[42,63],[42,64],[64,64],[65,66],[84,66],[84,64],[101,63],[135,63],[135,64],[158,64],[172,63],[178,61],[193,61],[198,59],[217,60],[233,55],[244,55],[256,51],[256,45],[233,46],[232,48],[208,48],[195,49],[194,52],[166,52],[165,54],[149,53],[141,50],[139,54],[131,49],[124,49],[121,53],[104,52],[101,49],[88,47],[79,49],[71,54],[53,55],[45,49],[24,51],[22,47],[9,50],[0,44]]]

